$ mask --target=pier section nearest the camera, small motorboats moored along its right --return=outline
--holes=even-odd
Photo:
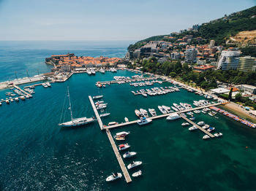
[[[117,149],[117,147],[116,147],[116,143],[115,143],[115,141],[113,140],[113,137],[111,136],[110,130],[109,130],[108,128],[106,128],[106,133],[107,133],[107,135],[108,135],[108,139],[109,139],[110,144],[111,144],[111,146],[112,146],[112,148],[113,148],[113,151],[115,152],[115,155],[116,155],[116,158],[117,158],[117,160],[118,160],[118,163],[119,163],[119,165],[120,165],[120,167],[121,167],[121,171],[123,171],[124,178],[125,178],[126,182],[127,182],[127,183],[132,182],[132,179],[131,179],[131,177],[129,176],[129,172],[127,171],[127,168],[126,168],[126,166],[125,166],[125,164],[124,164],[124,161],[123,161],[123,159],[122,159],[120,153],[118,152],[118,149]]]

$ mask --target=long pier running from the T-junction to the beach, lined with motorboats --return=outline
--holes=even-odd
[[[195,107],[195,108],[187,109],[187,110],[180,111],[180,112],[177,112],[177,113],[178,113],[178,114],[181,114],[181,113],[185,113],[185,112],[192,112],[192,111],[194,111],[194,110],[203,109],[203,108],[210,107],[210,106],[219,106],[220,104],[222,104],[222,103],[210,104],[210,105],[207,105],[207,106]],[[172,112],[172,113],[175,113],[175,112]],[[157,115],[157,116],[155,116],[155,117],[148,117],[148,119],[156,120],[156,119],[159,119],[159,118],[162,118],[162,117],[168,117],[168,116],[169,116],[170,114],[172,114],[172,113],[169,113],[169,114],[160,114],[160,115]],[[137,120],[129,121],[129,122],[123,122],[123,123],[119,123],[119,124],[116,124],[116,125],[106,126],[105,128],[118,128],[118,127],[122,127],[122,126],[125,126],[125,125],[132,125],[132,124],[135,124],[136,122],[137,122]],[[104,128],[104,127],[103,127],[103,128]],[[207,131],[207,132],[208,132],[208,131]]]

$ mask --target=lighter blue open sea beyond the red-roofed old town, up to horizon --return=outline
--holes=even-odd
[[[75,53],[99,57],[124,58],[130,42],[0,42],[0,82],[27,77],[50,71],[51,66],[45,64],[50,55]]]

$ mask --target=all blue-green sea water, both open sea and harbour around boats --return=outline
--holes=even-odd
[[[0,47],[2,81],[50,71],[44,59],[53,54],[74,52],[76,55],[124,57],[129,42],[4,42]],[[63,44],[62,44],[63,43]],[[4,53],[5,52],[5,53]],[[153,120],[148,125],[128,125],[111,129],[114,135],[129,131],[125,141],[134,158],[143,162],[129,170],[132,175],[141,170],[143,176],[132,177],[127,184],[124,176],[116,182],[105,182],[113,172],[121,172],[116,155],[105,131],[97,121],[80,128],[60,128],[61,115],[70,119],[65,95],[69,87],[74,117],[94,117],[89,95],[104,95],[108,103],[104,112],[110,116],[102,122],[124,122],[124,117],[136,120],[135,109],[172,106],[173,103],[192,104],[203,99],[181,89],[166,95],[133,95],[132,87],[113,84],[96,87],[95,83],[114,76],[132,77],[135,73],[118,70],[74,74],[66,82],[51,87],[37,86],[33,98],[0,106],[0,190],[256,190],[256,130],[222,114],[211,117],[195,114],[195,122],[204,121],[222,132],[222,138],[203,140],[200,130],[182,127],[184,120]],[[21,85],[23,87],[25,85]],[[168,82],[151,87],[173,86]],[[0,98],[10,90],[0,90]],[[120,153],[121,155],[124,152]]]

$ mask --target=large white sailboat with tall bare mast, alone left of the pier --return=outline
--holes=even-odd
[[[71,121],[59,123],[59,126],[61,126],[61,127],[78,127],[80,125],[86,125],[87,123],[94,121],[93,117],[90,117],[90,118],[80,117],[80,118],[74,119],[73,114],[72,114],[71,102],[70,102],[69,88],[67,88],[67,97],[69,98],[69,108],[68,109],[70,110]],[[61,114],[61,117],[62,117],[62,114]]]

